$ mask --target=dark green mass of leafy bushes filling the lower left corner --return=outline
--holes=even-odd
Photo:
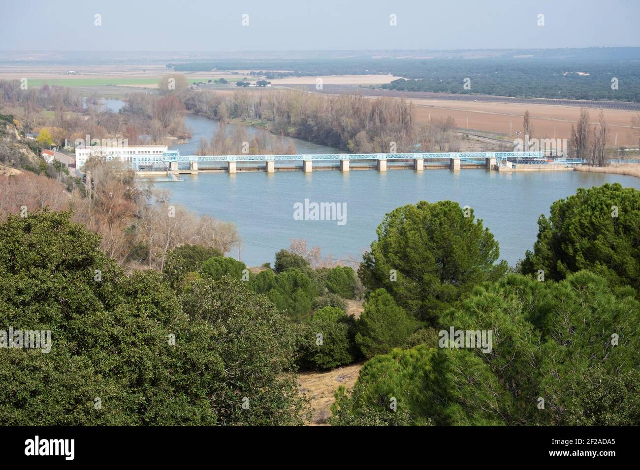
[[[0,224],[0,324],[51,331],[48,354],[0,350],[1,425],[301,423],[292,325],[264,297],[203,280],[181,305],[69,217]]]

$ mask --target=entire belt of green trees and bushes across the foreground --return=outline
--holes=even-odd
[[[360,269],[372,291],[358,320],[350,268],[280,252],[278,272],[247,278],[184,246],[162,276],[126,276],[69,214],[10,216],[0,325],[51,330],[52,344],[1,349],[0,424],[299,424],[296,366],[364,356],[335,425],[637,425],[638,194],[605,185],[554,203],[527,275],[502,276],[497,243],[457,204],[398,208]],[[491,335],[454,348],[440,329]]]

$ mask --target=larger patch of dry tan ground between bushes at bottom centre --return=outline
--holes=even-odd
[[[353,388],[362,364],[351,364],[329,372],[302,372],[298,377],[300,391],[311,398],[312,418],[310,426],[323,425],[331,416],[331,405],[335,401],[333,394],[339,386]]]

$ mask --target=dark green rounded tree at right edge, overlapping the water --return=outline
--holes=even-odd
[[[620,184],[578,189],[556,201],[538,220],[538,240],[527,251],[522,274],[543,270],[564,279],[589,269],[612,285],[640,289],[640,191]]]

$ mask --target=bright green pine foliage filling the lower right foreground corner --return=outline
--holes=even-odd
[[[477,286],[442,322],[492,331],[490,350],[419,345],[376,356],[353,394],[342,394],[334,423],[370,409],[391,413],[394,397],[412,424],[637,424],[640,302],[633,294],[585,271],[561,282],[510,274]]]

